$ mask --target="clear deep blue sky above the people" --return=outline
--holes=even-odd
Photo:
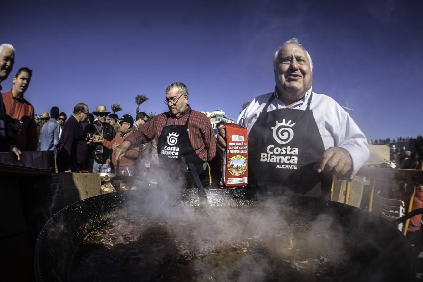
[[[36,113],[78,102],[163,112],[181,81],[195,110],[242,104],[273,91],[272,58],[292,37],[309,51],[313,91],[353,108],[370,139],[423,134],[422,1],[5,1],[1,43],[33,69]]]

